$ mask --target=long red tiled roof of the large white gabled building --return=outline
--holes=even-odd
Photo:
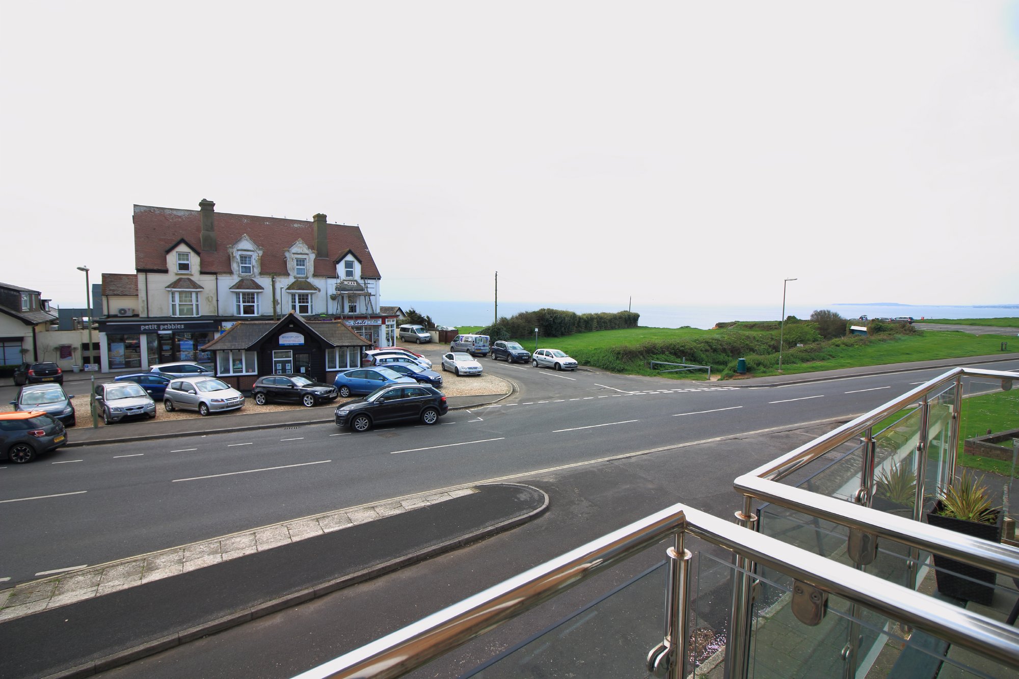
[[[226,249],[245,233],[264,251],[261,261],[263,274],[288,275],[283,252],[298,239],[302,239],[310,248],[315,247],[311,221],[227,212],[214,214],[216,250],[201,253],[203,272],[230,273]],[[140,271],[166,271],[166,251],[180,239],[192,244],[202,242],[202,217],[199,210],[136,205],[133,221],[135,267]],[[318,275],[325,272],[326,275],[335,276],[333,265],[336,260],[333,258],[351,251],[361,260],[361,273],[364,277],[381,278],[360,227],[327,224],[327,238],[329,252],[316,253],[315,257],[315,272]]]

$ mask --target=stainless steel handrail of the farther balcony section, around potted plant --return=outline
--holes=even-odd
[[[1011,577],[1019,577],[1019,549],[968,537],[945,528],[937,528],[779,483],[776,480],[853,438],[860,431],[873,426],[889,415],[915,403],[917,398],[924,394],[936,389],[959,376],[1019,379],[1019,373],[1015,372],[954,368],[908,391],[905,396],[893,399],[852,422],[739,476],[733,481],[733,486],[744,495],[773,503],[850,528],[857,528],[925,552],[945,555],[971,566],[985,568]]]

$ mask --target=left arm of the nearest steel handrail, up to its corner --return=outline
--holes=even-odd
[[[299,675],[398,677],[686,527],[682,505],[635,521]]]

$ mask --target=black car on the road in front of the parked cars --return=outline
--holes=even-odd
[[[366,431],[374,424],[399,420],[421,420],[425,424],[435,424],[448,410],[445,396],[435,387],[425,384],[388,384],[380,386],[364,399],[337,408],[336,426],[350,426],[355,431]]]

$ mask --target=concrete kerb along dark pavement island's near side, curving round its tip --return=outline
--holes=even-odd
[[[539,488],[535,488],[534,486],[527,487],[539,492],[544,498],[540,507],[528,512],[527,514],[512,517],[495,525],[488,526],[487,528],[481,528],[479,530],[450,538],[439,544],[432,545],[425,550],[420,550],[412,555],[406,555],[384,564],[379,564],[377,566],[358,571],[357,573],[344,575],[315,587],[309,587],[257,606],[246,608],[242,611],[237,611],[228,616],[223,616],[216,620],[210,620],[202,625],[181,630],[176,634],[170,634],[147,643],[139,644],[137,646],[111,654],[104,658],[100,658],[99,660],[92,661],[91,663],[86,663],[84,665],[70,668],[69,670],[48,675],[45,679],[77,679],[78,677],[95,676],[100,672],[105,672],[107,670],[132,663],[148,656],[154,656],[163,650],[187,643],[189,641],[194,641],[195,639],[200,639],[204,636],[209,636],[225,629],[243,625],[246,622],[263,618],[272,613],[276,613],[277,611],[282,611],[283,609],[310,602],[313,598],[325,596],[326,594],[330,594],[338,589],[342,589],[343,587],[348,587],[366,580],[380,577],[386,573],[390,573],[406,566],[430,559],[444,552],[449,552],[450,550],[454,550],[504,530],[508,530],[531,521],[548,511],[548,494]]]

